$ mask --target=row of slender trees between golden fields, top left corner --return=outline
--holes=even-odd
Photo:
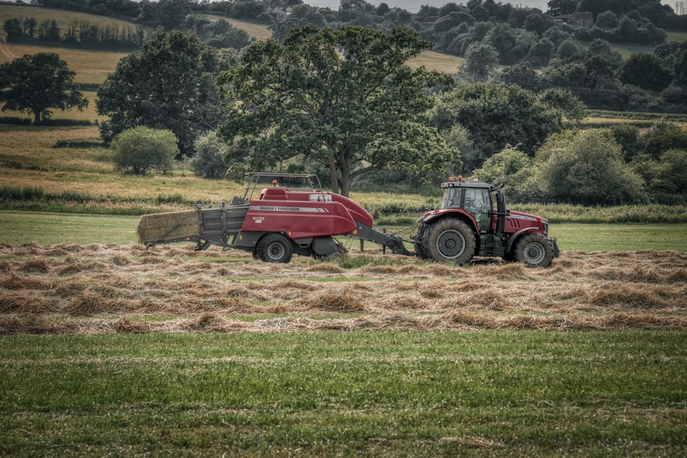
[[[147,34],[142,28],[122,26],[116,23],[99,25],[78,19],[63,30],[56,19],[40,23],[34,17],[12,18],[3,23],[10,43],[51,43],[63,45],[107,45],[135,49],[145,41]]]

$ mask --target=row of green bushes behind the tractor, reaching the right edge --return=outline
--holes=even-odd
[[[521,202],[594,206],[687,204],[687,132],[659,121],[646,132],[609,129],[554,134],[533,157],[513,147],[493,155],[475,176],[506,183]]]

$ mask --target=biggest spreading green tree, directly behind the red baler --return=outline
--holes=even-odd
[[[300,157],[326,168],[343,195],[371,171],[443,171],[455,151],[425,127],[423,113],[433,104],[427,91],[452,78],[405,65],[429,47],[409,29],[354,26],[306,26],[281,45],[253,43],[220,78],[227,162],[257,170]]]

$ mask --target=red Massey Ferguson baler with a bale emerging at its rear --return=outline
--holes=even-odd
[[[231,205],[145,215],[137,232],[146,246],[192,241],[196,250],[214,244],[250,251],[267,262],[287,263],[294,253],[318,258],[343,253],[337,235],[414,256],[401,237],[373,229],[365,208],[323,191],[316,175],[250,173],[245,195],[234,197]]]

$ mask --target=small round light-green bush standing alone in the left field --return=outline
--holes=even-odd
[[[157,170],[169,173],[174,157],[179,154],[177,138],[172,131],[134,127],[117,135],[111,144],[115,165],[134,175]]]

